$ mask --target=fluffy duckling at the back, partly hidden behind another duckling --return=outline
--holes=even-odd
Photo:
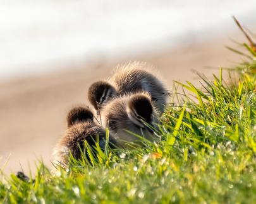
[[[147,91],[156,108],[163,113],[170,93],[150,69],[151,67],[143,62],[131,62],[117,67],[116,72],[107,81],[94,82],[90,86],[90,103],[96,110],[101,110],[103,105],[116,96]]]

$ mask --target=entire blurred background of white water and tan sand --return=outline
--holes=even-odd
[[[241,62],[225,48],[245,41],[231,16],[255,31],[255,11],[255,0],[1,0],[1,169],[50,166],[68,110],[119,63],[148,62],[171,89]]]

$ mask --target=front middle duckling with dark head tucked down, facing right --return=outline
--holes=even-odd
[[[101,118],[102,126],[109,128],[119,147],[130,149],[131,142],[142,145],[137,135],[150,141],[157,139],[152,129],[159,123],[159,113],[145,91],[109,101],[101,110]]]

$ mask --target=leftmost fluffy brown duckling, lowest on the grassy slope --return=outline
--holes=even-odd
[[[75,159],[81,158],[80,148],[85,147],[85,140],[94,145],[97,137],[102,149],[105,147],[106,131],[94,123],[94,115],[88,108],[78,106],[70,110],[67,116],[68,128],[53,150],[52,163],[67,166],[70,153]],[[114,140],[109,137],[109,142]]]

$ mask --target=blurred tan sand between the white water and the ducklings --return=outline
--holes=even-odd
[[[238,38],[242,36],[238,34]],[[143,60],[157,67],[169,88],[173,80],[190,80],[198,84],[192,69],[211,76],[220,65],[241,61],[224,45],[233,45],[228,37],[194,42],[177,49],[155,54],[102,60],[54,74],[30,76],[0,84],[0,167],[8,160],[5,173],[35,170],[35,162],[43,160],[51,166],[51,151],[66,128],[66,113],[71,107],[87,103],[88,86],[109,76],[119,62]],[[75,66],[75,65],[74,65]],[[205,66],[216,69],[205,69]],[[81,68],[76,67],[76,68]],[[88,103],[87,103],[88,104]],[[8,159],[9,157],[9,159]],[[29,165],[30,164],[30,165]]]

